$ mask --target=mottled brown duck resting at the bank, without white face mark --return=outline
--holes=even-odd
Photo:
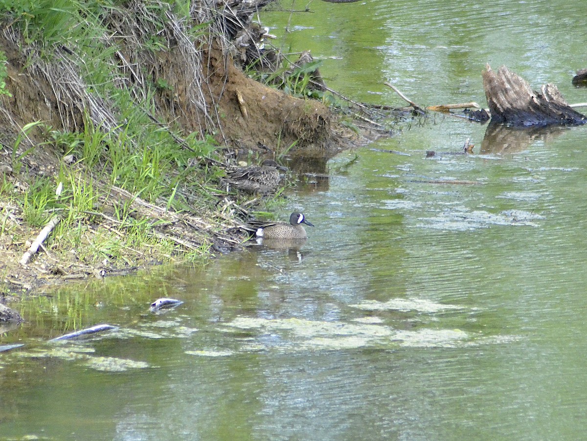
[[[229,172],[228,176],[224,178],[224,182],[248,193],[272,193],[277,191],[279,181],[281,181],[279,171],[286,170],[285,167],[281,167],[273,160],[265,160],[261,166],[251,165]]]

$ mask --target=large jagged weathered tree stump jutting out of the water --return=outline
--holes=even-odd
[[[587,122],[587,117],[566,103],[554,84],[545,84],[538,93],[505,66],[495,73],[487,65],[483,72],[483,89],[493,123],[531,127]]]

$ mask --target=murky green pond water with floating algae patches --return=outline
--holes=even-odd
[[[336,54],[323,73],[365,100],[395,100],[374,79],[391,76],[414,99],[483,101],[478,71],[491,61],[585,101],[565,83],[584,67],[569,53],[582,54],[585,12],[569,2],[424,5],[312,4],[329,32],[315,24],[292,44]],[[566,30],[539,25],[539,6]],[[296,43],[304,32],[319,37]],[[366,66],[366,53],[383,55]],[[316,225],[299,251],[253,247],[23,304],[35,321],[0,337],[25,343],[0,353],[0,436],[580,439],[586,135],[484,144],[484,126],[436,116],[292,191],[282,217],[300,210]],[[426,158],[466,138],[473,155]],[[151,314],[158,297],[184,304]],[[97,323],[120,328],[47,342]]]

